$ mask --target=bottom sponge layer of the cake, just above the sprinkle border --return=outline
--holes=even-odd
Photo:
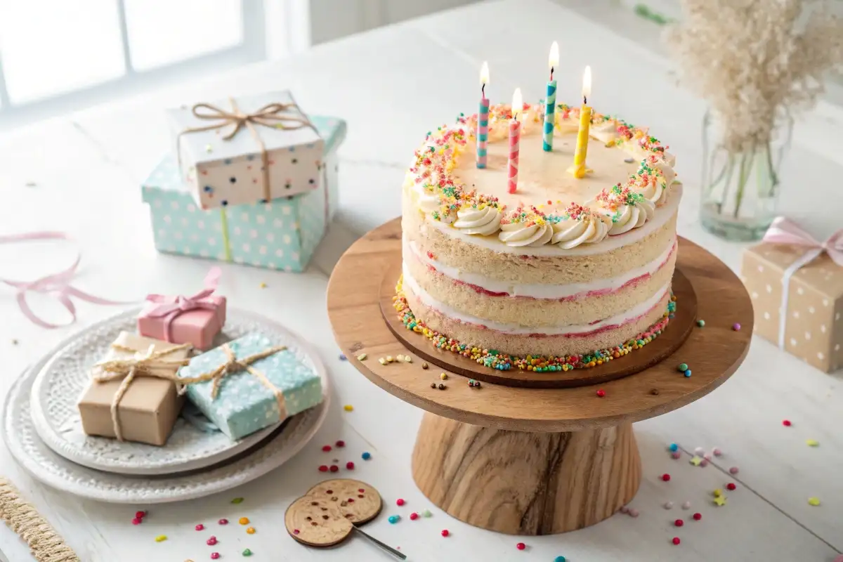
[[[608,318],[598,324],[567,327],[566,331],[545,329],[529,332],[517,326],[472,323],[471,318],[464,314],[445,306],[438,306],[437,302],[427,293],[421,292],[418,285],[406,275],[404,294],[416,318],[428,328],[466,345],[494,349],[513,356],[565,356],[614,348],[636,338],[656,324],[663,318],[670,301],[670,290],[667,286],[655,299],[650,299],[629,311],[628,316]]]

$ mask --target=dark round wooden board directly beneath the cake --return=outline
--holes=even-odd
[[[395,264],[386,271],[380,284],[380,312],[384,315],[384,322],[395,335],[395,338],[408,350],[438,367],[443,367],[463,377],[474,378],[484,383],[503,384],[508,387],[582,387],[588,384],[608,383],[616,378],[642,372],[644,369],[660,363],[678,350],[694,329],[696,320],[694,286],[691,285],[685,274],[676,270],[673,280],[677,304],[674,318],[671,318],[662,335],[659,335],[658,338],[641,349],[637,349],[628,356],[620,357],[615,361],[609,361],[599,367],[588,369],[576,369],[568,372],[535,372],[513,368],[509,371],[497,371],[481,365],[477,361],[472,361],[468,357],[457,355],[451,351],[442,351],[432,345],[424,335],[406,329],[392,306],[392,299],[395,297],[395,282],[398,281],[400,275],[401,262],[400,255],[398,255]]]

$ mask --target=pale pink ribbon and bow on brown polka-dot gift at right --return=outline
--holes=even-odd
[[[833,233],[824,242],[819,242],[799,227],[796,222],[776,217],[770,228],[764,234],[764,242],[771,244],[793,244],[803,246],[807,251],[787,267],[781,274],[781,308],[779,308],[779,347],[784,349],[785,331],[787,327],[787,298],[790,292],[790,281],[794,273],[804,265],[825,252],[835,264],[843,267],[843,228]]]

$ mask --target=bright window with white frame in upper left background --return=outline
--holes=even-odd
[[[266,56],[262,0],[0,0],[0,126]]]

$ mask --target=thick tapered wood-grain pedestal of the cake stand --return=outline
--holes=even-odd
[[[448,515],[513,535],[565,533],[610,517],[641,482],[632,425],[526,433],[425,414],[413,479]]]

